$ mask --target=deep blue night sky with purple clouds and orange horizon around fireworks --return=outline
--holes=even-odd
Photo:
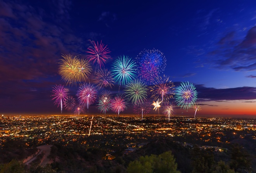
[[[118,56],[161,51],[161,75],[195,85],[198,116],[255,117],[255,7],[255,0],[0,0],[0,114],[60,114],[51,100],[52,87],[65,85],[59,59],[86,58],[90,39],[111,51],[107,68]],[[78,86],[67,88],[75,95]]]

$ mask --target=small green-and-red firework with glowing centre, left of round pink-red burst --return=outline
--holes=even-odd
[[[97,107],[100,113],[104,112],[104,114],[111,109],[111,96],[109,91],[102,92]]]

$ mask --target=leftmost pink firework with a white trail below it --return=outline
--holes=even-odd
[[[53,87],[53,97],[52,100],[55,99],[54,104],[57,105],[57,107],[61,106],[61,113],[62,113],[62,102],[64,102],[67,99],[67,89],[64,88],[62,85],[56,85]]]

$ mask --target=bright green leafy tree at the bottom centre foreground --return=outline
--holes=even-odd
[[[129,163],[128,173],[180,173],[177,171],[177,164],[171,151],[167,151],[159,156],[141,156],[139,160]]]

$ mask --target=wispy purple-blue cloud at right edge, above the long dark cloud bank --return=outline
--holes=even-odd
[[[244,39],[235,37],[235,32],[228,32],[208,53],[211,64],[219,69],[234,71],[256,70],[256,26],[249,29]],[[209,61],[208,61],[209,63]]]

